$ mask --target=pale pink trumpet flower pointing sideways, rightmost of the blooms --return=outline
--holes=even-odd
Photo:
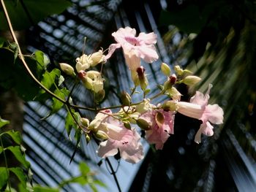
[[[201,142],[201,134],[206,136],[212,136],[214,134],[213,124],[223,123],[223,110],[218,104],[208,104],[208,99],[210,98],[209,93],[212,85],[208,87],[208,91],[205,95],[197,91],[195,96],[192,96],[190,103],[180,101],[177,103],[178,112],[183,115],[187,115],[190,118],[196,118],[202,120],[202,124],[195,135],[195,142]],[[210,123],[211,122],[211,123]]]

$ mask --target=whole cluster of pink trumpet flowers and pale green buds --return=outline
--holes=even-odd
[[[94,120],[82,118],[85,127],[86,137],[94,137],[99,140],[97,154],[108,157],[120,154],[124,160],[135,164],[143,158],[143,145],[140,140],[140,132],[145,133],[146,141],[154,145],[157,150],[164,147],[170,134],[174,134],[174,120],[177,112],[187,115],[190,118],[201,120],[201,125],[195,135],[195,142],[201,142],[201,134],[212,136],[214,134],[212,124],[223,122],[223,110],[218,104],[208,104],[209,93],[212,85],[209,85],[206,94],[196,91],[190,102],[181,101],[181,93],[175,85],[184,83],[195,85],[200,81],[200,77],[192,75],[188,70],[174,66],[174,73],[167,64],[162,63],[161,70],[166,76],[166,81],[162,83],[159,93],[146,99],[148,91],[148,80],[145,69],[140,64],[143,59],[147,63],[157,61],[159,58],[155,44],[157,35],[140,33],[136,37],[134,28],[119,28],[114,32],[115,44],[108,48],[108,54],[103,55],[103,51],[91,55],[83,54],[76,59],[77,77],[83,85],[94,93],[95,98],[104,97],[104,79],[101,72],[89,71],[90,67],[97,64],[104,64],[113,55],[116,49],[122,48],[127,66],[131,72],[131,78],[135,88],[140,87],[143,91],[143,99],[138,103],[132,103],[132,93],[123,91],[120,96],[121,109],[118,112],[100,110]],[[68,75],[75,75],[75,70],[69,64],[60,64],[61,69]],[[99,96],[100,95],[100,96]],[[157,96],[168,96],[167,101],[162,104],[153,104],[152,100]],[[97,102],[96,102],[97,103]],[[105,109],[107,109],[105,108]],[[88,139],[89,140],[89,139]]]

